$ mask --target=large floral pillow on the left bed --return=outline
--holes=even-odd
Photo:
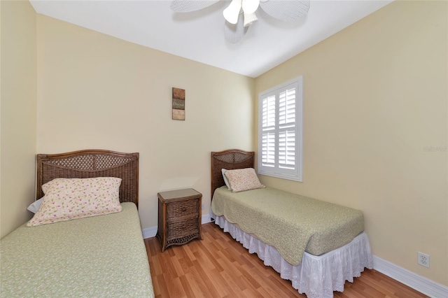
[[[56,178],[42,185],[44,199],[28,227],[120,212],[121,179]]]

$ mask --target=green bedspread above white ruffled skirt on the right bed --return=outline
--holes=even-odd
[[[364,230],[359,210],[274,188],[232,193],[223,186],[211,203],[215,215],[274,246],[297,266],[304,251],[321,255],[349,243]]]

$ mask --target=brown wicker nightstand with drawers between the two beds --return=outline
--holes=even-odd
[[[201,236],[202,194],[188,188],[159,192],[159,225],[157,236],[162,251],[180,246]]]

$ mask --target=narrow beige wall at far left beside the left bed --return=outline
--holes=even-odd
[[[0,238],[31,218],[36,154],[36,13],[0,1]]]

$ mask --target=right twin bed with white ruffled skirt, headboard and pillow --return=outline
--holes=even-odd
[[[211,207],[224,232],[307,297],[333,297],[372,269],[361,211],[264,187],[253,165],[254,152],[211,152]]]

